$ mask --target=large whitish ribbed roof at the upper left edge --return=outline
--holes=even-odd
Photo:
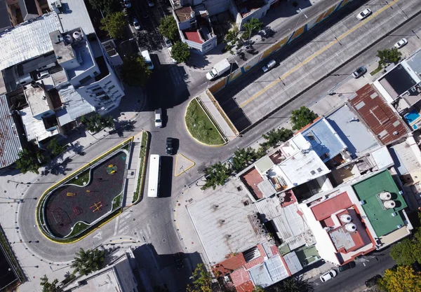
[[[53,51],[49,33],[57,29],[57,14],[48,13],[1,33],[0,70]]]

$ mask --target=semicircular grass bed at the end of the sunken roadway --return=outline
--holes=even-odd
[[[221,145],[225,143],[196,99],[193,99],[187,107],[185,119],[187,130],[189,130],[194,138],[202,143],[208,145]]]

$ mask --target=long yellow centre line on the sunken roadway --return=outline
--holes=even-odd
[[[367,18],[366,20],[361,21],[358,25],[356,25],[355,27],[352,27],[352,29],[349,29],[349,31],[345,32],[344,34],[342,34],[341,36],[338,36],[338,38],[335,41],[332,41],[331,43],[328,44],[328,46],[321,48],[321,50],[317,51],[316,53],[314,53],[313,55],[307,57],[307,59],[305,59],[304,61],[300,62],[300,64],[297,64],[295,67],[293,67],[293,69],[290,69],[289,71],[287,71],[285,74],[283,74],[282,76],[279,77],[279,80],[272,82],[271,84],[267,85],[267,87],[263,88],[262,90],[260,90],[259,92],[255,93],[255,95],[253,95],[252,97],[250,97],[249,99],[247,99],[245,102],[243,102],[242,104],[240,104],[240,106],[236,109],[234,109],[232,112],[234,111],[238,111],[239,109],[241,109],[243,106],[246,106],[246,104],[248,104],[249,102],[251,102],[253,99],[255,99],[256,97],[258,97],[259,95],[262,95],[263,92],[269,90],[270,88],[274,87],[274,85],[278,84],[279,82],[282,81],[283,78],[286,78],[287,76],[289,76],[290,74],[293,74],[293,72],[297,71],[298,69],[300,69],[303,65],[307,64],[308,62],[310,62],[311,60],[313,60],[315,57],[317,57],[318,55],[320,55],[321,53],[323,53],[324,51],[326,51],[328,48],[330,48],[331,46],[333,46],[335,43],[339,43],[340,40],[344,39],[345,36],[347,36],[348,34],[351,34],[352,32],[354,32],[356,29],[359,29],[359,27],[362,27],[364,24],[366,24],[366,22],[370,21],[371,19],[373,19],[376,15],[379,15],[380,13],[382,13],[383,11],[385,11],[387,8],[389,8],[392,4],[395,4],[396,2],[398,2],[399,0],[393,0],[392,2],[390,2],[387,6],[384,6],[382,8],[380,8],[379,11],[376,11],[375,13],[373,13],[373,15],[369,18]]]

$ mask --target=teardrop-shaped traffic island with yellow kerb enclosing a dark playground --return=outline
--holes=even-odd
[[[132,142],[133,137],[44,192],[36,222],[45,237],[76,242],[121,213]]]

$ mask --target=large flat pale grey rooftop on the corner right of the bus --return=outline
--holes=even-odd
[[[257,210],[246,191],[239,191],[234,181],[224,190],[206,190],[209,195],[187,206],[203,249],[211,263],[219,263],[230,253],[250,249],[265,237],[253,228],[252,216]],[[248,202],[245,204],[244,202]]]

